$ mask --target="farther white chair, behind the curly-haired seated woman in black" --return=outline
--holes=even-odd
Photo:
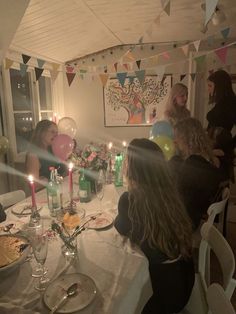
[[[224,218],[225,218],[225,208],[226,204],[229,200],[230,190],[228,187],[225,187],[222,191],[222,200],[219,202],[212,203],[207,210],[207,220],[205,222],[213,225],[215,224],[217,228],[223,233],[223,226],[224,226]],[[214,223],[216,215],[219,215],[218,222]],[[202,224],[204,221],[202,221]],[[199,248],[201,242],[201,234],[200,229],[202,224],[198,227],[198,229],[193,234],[193,247]]]

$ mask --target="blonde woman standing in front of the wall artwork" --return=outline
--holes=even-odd
[[[164,119],[174,126],[178,121],[190,117],[190,111],[186,104],[188,100],[188,88],[182,83],[175,84],[170,92],[166,105]]]

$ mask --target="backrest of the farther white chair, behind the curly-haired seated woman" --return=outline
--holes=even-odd
[[[223,230],[224,210],[229,200],[229,196],[230,196],[230,190],[228,187],[225,187],[222,191],[222,200],[211,204],[207,210],[207,214],[208,214],[207,222],[210,224],[214,223],[216,215],[218,214],[220,215],[219,216],[219,229],[221,232]]]

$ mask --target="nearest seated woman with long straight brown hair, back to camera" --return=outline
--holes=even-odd
[[[119,199],[114,225],[149,261],[153,296],[142,313],[177,313],[194,284],[192,228],[156,143],[144,138],[130,142],[127,181],[128,192]]]

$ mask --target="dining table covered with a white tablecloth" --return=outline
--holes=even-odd
[[[78,189],[78,185],[74,184],[74,196],[78,195]],[[78,201],[76,206],[85,211],[84,219],[102,211],[114,221],[119,196],[124,190],[124,187],[117,188],[113,183],[106,184],[102,201],[96,195],[92,195],[90,202]],[[68,178],[63,180],[62,191],[65,201],[66,197],[69,197]],[[18,229],[21,232],[21,228],[29,223],[30,215],[19,217],[14,213],[14,209],[25,203],[31,203],[30,196],[6,210],[7,220],[1,223],[0,227],[13,223],[16,232]],[[36,203],[41,218],[48,224],[50,230],[55,217],[50,216],[46,189],[36,193]],[[13,233],[14,230],[9,231],[11,232]],[[117,232],[113,223],[104,229],[85,228],[77,236],[77,258],[68,258],[62,254],[62,240],[55,232],[49,233],[48,245],[45,262],[48,269],[47,277],[50,279],[48,286],[57,282],[61,276],[68,274],[73,277],[78,273],[88,276],[96,285],[96,295],[93,300],[75,313],[138,314],[142,312],[152,295],[148,260],[137,246]],[[1,314],[50,313],[50,309],[45,304],[45,292],[39,292],[34,288],[35,281],[38,280],[31,276],[35,265],[35,259],[28,258],[10,272],[0,271]],[[60,312],[60,309],[58,311]]]

